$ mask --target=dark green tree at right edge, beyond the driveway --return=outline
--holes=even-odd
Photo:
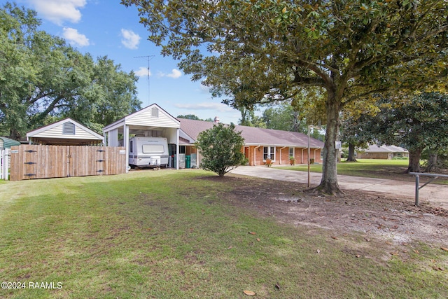
[[[363,116],[358,126],[380,144],[399,145],[409,151],[407,172],[420,172],[424,150],[437,153],[448,147],[448,95],[423,92],[391,101],[379,100],[380,111]]]

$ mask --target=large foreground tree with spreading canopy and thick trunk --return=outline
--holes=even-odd
[[[447,1],[122,0],[148,39],[225,102],[251,107],[325,90],[319,190],[338,193],[339,113],[374,92],[447,76]],[[446,84],[446,82],[445,82]]]

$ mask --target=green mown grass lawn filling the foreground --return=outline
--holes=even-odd
[[[1,183],[1,280],[27,288],[1,289],[0,298],[448,297],[448,253],[439,248],[413,244],[419,254],[402,259],[362,234],[311,234],[232,204],[232,186],[209,176],[190,169]],[[354,256],[361,246],[368,256]]]

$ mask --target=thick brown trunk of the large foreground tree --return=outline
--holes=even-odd
[[[335,147],[337,132],[339,130],[340,103],[336,99],[335,92],[330,90],[327,92],[327,130],[325,132],[325,144],[323,148],[322,179],[319,186],[315,189],[325,194],[335,195],[342,193],[339,189],[339,184],[337,183],[336,159],[338,151]]]

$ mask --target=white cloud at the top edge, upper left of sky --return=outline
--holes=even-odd
[[[83,8],[86,0],[27,0],[39,16],[61,26],[64,21],[77,23],[81,19],[78,8]]]

